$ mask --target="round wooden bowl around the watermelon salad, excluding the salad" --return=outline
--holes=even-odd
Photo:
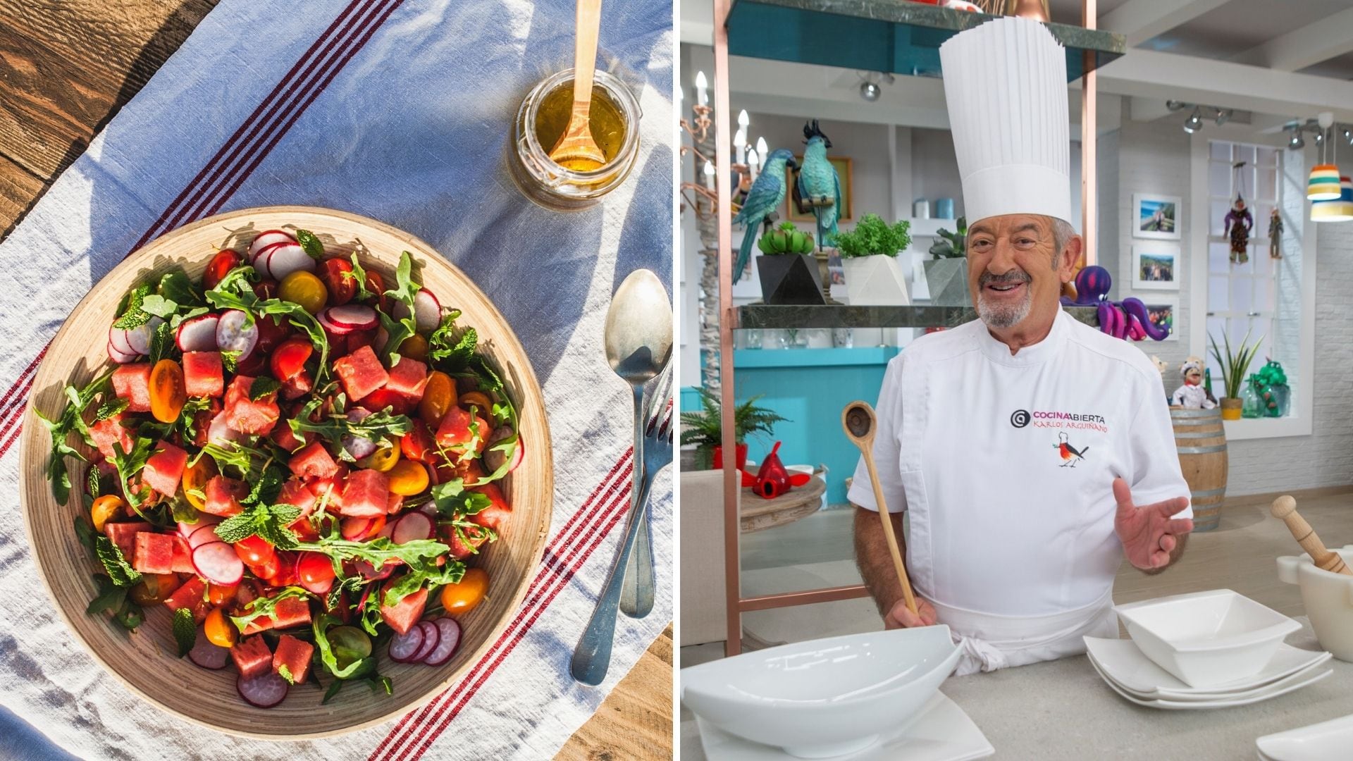
[[[510,524],[498,542],[487,544],[471,561],[488,571],[488,594],[471,613],[459,617],[461,645],[453,658],[441,666],[396,664],[377,647],[373,654],[379,657],[379,672],[392,680],[394,695],[357,682],[345,685],[321,707],[325,691],[311,682],[292,687],[276,707],[257,708],[235,691],[233,665],[210,670],[177,657],[166,607],[147,608],[145,623],[135,632],[127,632],[107,613],[85,613],[96,593],[92,574],[99,569],[73,528],[76,515],[84,512],[78,485],[85,467],[68,460],[74,487],[69,504],[57,504],[46,479],[51,437],[32,408],[37,405],[49,416],[60,413],[65,404],[64,383],[84,386],[108,366],[108,328],[116,318],[119,301],[135,284],[157,282],[175,267],[198,280],[216,251],[230,248],[245,253],[260,232],[295,227],[315,233],[330,253],[346,255],[360,246],[363,264],[379,271],[387,283],[395,282],[400,252],[413,255],[414,279],[444,306],[460,309],[460,325],[478,330],[480,352],[498,368],[520,410],[525,459],[514,477],[502,482],[513,506]],[[308,739],[349,733],[430,700],[478,662],[511,622],[540,563],[549,528],[553,466],[543,405],[530,362],[502,314],[469,278],[426,242],[375,219],[329,209],[268,206],[231,211],[180,227],[129,256],[80,299],[51,340],[23,420],[19,498],[24,527],[38,574],[55,609],[95,659],[133,692],[176,716],[237,735]],[[329,680],[325,681],[327,685]]]

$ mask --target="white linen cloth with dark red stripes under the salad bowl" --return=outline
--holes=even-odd
[[[639,267],[671,291],[671,18],[667,3],[603,7],[598,66],[639,96],[641,149],[625,184],[576,214],[529,203],[503,164],[521,97],[572,65],[571,1],[223,0],[203,19],[0,244],[0,704],[81,758],[555,754],[672,619],[668,471],[652,498],[656,608],[620,616],[601,688],[570,678],[628,512],[630,401],[602,352],[606,307]],[[552,531],[521,620],[429,712],[313,742],[188,724],[96,665],[38,584],[12,445],[35,359],[81,295],[141,242],[267,204],[365,214],[464,269],[532,357],[555,447]]]

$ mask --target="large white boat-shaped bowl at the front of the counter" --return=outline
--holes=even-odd
[[[901,729],[958,655],[943,624],[829,636],[682,669],[681,699],[724,731],[824,758]]]

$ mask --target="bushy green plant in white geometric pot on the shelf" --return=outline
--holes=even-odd
[[[907,280],[897,264],[897,255],[912,242],[911,222],[884,222],[878,214],[866,214],[854,230],[836,233],[836,251],[842,255],[846,294],[851,305],[907,306]]]

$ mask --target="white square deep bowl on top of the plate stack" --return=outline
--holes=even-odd
[[[1260,673],[1283,638],[1302,628],[1230,589],[1158,597],[1114,609],[1142,653],[1189,687]]]

